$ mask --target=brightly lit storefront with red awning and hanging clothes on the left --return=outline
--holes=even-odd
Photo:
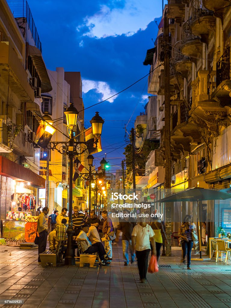
[[[45,187],[45,180],[41,176],[0,156],[1,237],[7,234],[12,240],[25,240],[25,224],[36,223],[33,215],[37,206],[38,187]],[[30,227],[31,231],[34,226]],[[30,231],[27,240],[31,240],[33,232]]]

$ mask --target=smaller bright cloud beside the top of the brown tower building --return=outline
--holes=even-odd
[[[95,90],[96,93],[102,94],[101,99],[99,101],[107,99],[112,95],[115,95],[117,92],[110,88],[109,84],[104,81],[94,81],[89,79],[83,79],[83,93],[87,93],[91,90]],[[117,96],[114,96],[108,99],[108,102],[113,103]]]

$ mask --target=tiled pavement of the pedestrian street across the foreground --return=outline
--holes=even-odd
[[[121,245],[113,246],[110,266],[43,268],[37,251],[0,246],[0,299],[22,299],[10,308],[223,308],[231,307],[231,265],[192,261],[180,263],[180,249],[161,257],[157,274],[139,282],[136,264],[124,266]]]

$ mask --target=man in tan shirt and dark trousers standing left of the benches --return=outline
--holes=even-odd
[[[47,206],[43,208],[43,212],[38,217],[38,233],[39,233],[39,253],[43,253],[47,247],[47,234],[48,234],[48,225],[46,220],[46,215],[48,214],[49,209]],[[41,262],[40,257],[38,262]]]

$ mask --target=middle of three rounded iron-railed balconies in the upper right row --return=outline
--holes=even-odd
[[[201,57],[202,47],[200,36],[194,35],[191,30],[191,21],[186,21],[182,25],[182,45],[181,52],[189,57]]]

